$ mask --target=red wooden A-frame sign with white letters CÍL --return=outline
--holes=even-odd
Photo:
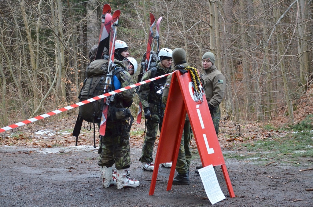
[[[205,95],[203,95],[203,100],[203,103],[194,101],[190,73],[182,74],[180,71],[174,71],[149,195],[154,194],[157,173],[161,163],[172,161],[167,190],[172,188],[179,146],[182,139],[182,130],[187,113],[203,167],[210,164],[213,166],[221,165],[229,195],[231,198],[235,197]]]

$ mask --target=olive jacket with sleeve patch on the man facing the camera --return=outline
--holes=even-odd
[[[215,65],[204,72],[201,78],[204,83],[205,97],[208,103],[210,102],[213,106],[217,106],[224,97],[226,79]]]

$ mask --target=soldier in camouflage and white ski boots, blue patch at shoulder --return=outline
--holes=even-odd
[[[134,84],[131,75],[127,72],[129,68],[126,67],[125,63],[118,60],[114,60],[114,63],[117,66],[115,70],[118,68],[123,68],[123,70],[114,75],[113,89],[116,90]],[[104,188],[113,185],[116,185],[117,189],[139,186],[139,181],[127,175],[131,165],[129,146],[129,122],[131,117],[115,120],[110,114],[114,108],[130,107],[134,93],[134,88],[117,93],[109,105],[105,135],[100,136],[100,149],[98,152],[101,154],[98,165],[102,168],[102,186]],[[114,163],[117,173],[112,175]]]

